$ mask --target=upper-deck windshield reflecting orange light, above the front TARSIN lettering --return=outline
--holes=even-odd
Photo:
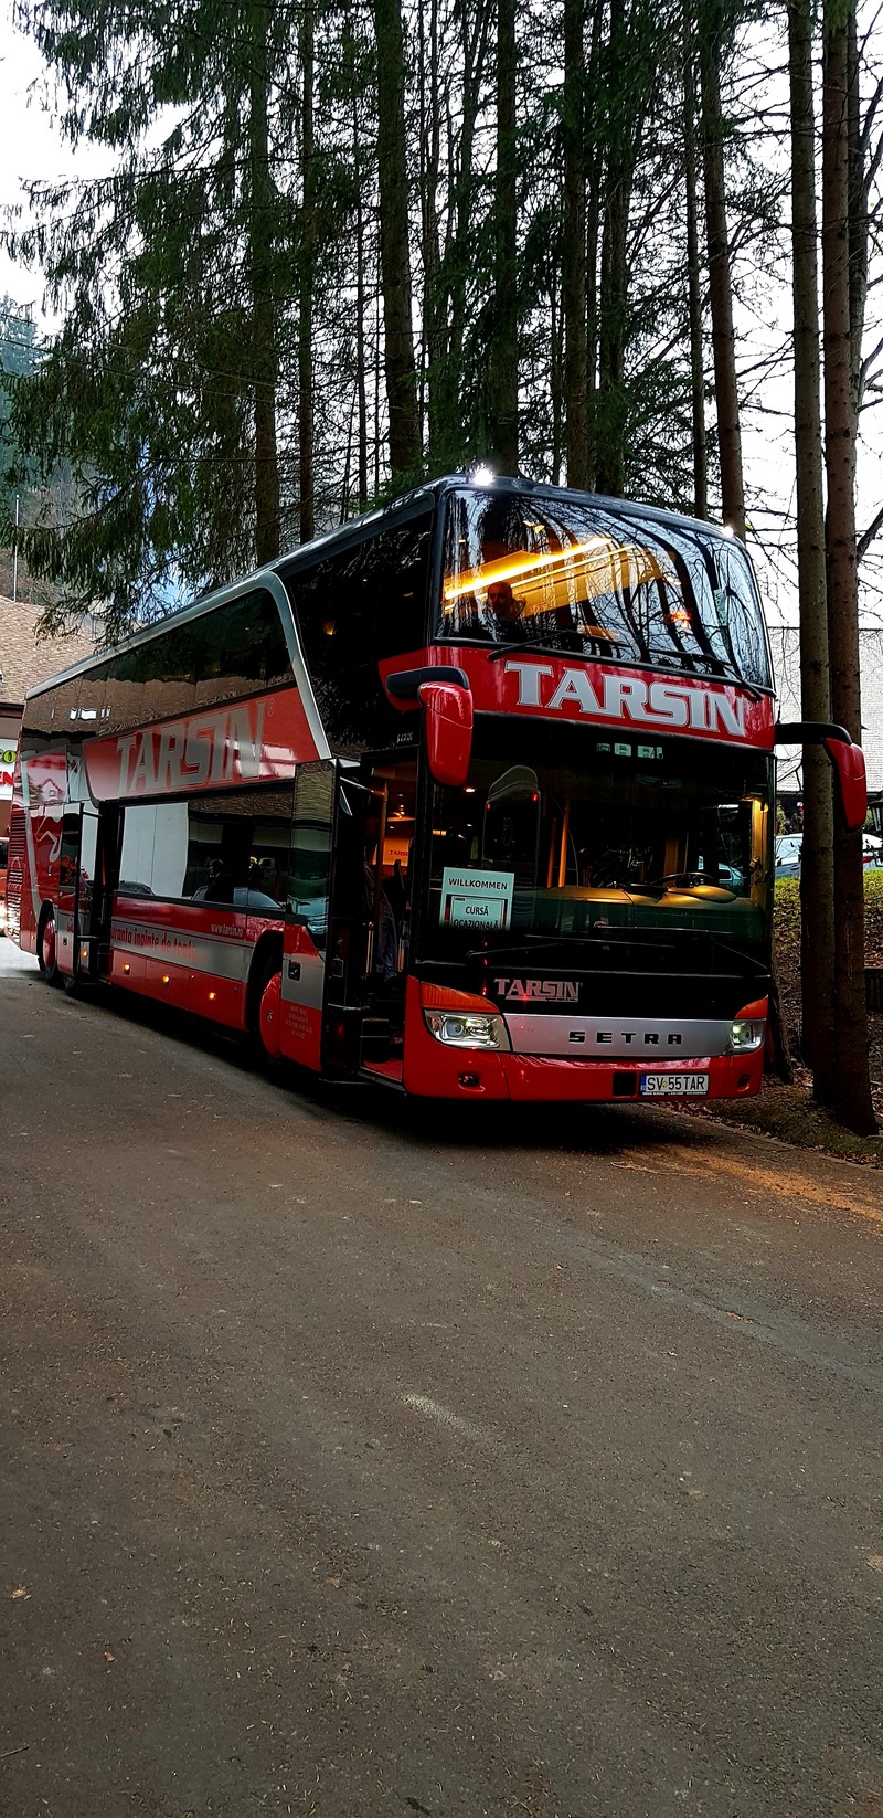
[[[449,496],[440,636],[770,687],[738,542],[567,494]]]

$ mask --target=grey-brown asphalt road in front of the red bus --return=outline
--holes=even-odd
[[[4,1814],[883,1818],[879,1174],[0,1031]]]

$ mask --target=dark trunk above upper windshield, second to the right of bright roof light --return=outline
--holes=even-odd
[[[589,340],[585,318],[585,0],[565,0],[563,269],[567,485],[589,487]]]

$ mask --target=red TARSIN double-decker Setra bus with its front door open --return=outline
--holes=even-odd
[[[707,524],[445,478],[33,691],[9,925],[414,1094],[739,1096],[767,1027],[776,729]]]

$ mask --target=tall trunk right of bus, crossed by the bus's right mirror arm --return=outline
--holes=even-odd
[[[828,594],[821,456],[816,118],[810,0],[789,0],[790,195],[794,284],[794,451],[798,465],[799,676],[805,720],[830,720]],[[803,1060],[814,1093],[834,1094],[834,813],[830,764],[803,753],[801,1004]]]

